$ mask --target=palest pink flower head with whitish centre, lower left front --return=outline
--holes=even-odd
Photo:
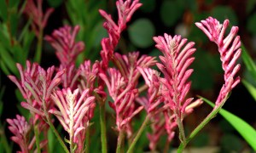
[[[62,127],[69,133],[70,141],[78,144],[77,152],[83,151],[85,131],[89,126],[91,114],[96,104],[95,97],[89,95],[89,89],[79,95],[79,89],[71,91],[70,88],[56,91],[51,95],[56,109],[49,110],[61,122]]]

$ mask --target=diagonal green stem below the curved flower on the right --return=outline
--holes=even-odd
[[[189,141],[191,139],[193,139],[195,137],[195,135],[197,133],[199,133],[201,131],[201,129],[203,127],[205,127],[207,125],[207,123],[210,122],[212,120],[212,118],[214,118],[218,114],[218,111],[220,111],[220,109],[224,105],[224,102],[226,101],[226,99],[227,99],[227,97],[197,127],[195,127],[195,129],[192,131],[192,133],[190,133],[189,138],[186,139],[185,141],[183,141],[183,143],[178,146],[178,149],[177,149],[178,153],[183,152],[186,145],[189,144]]]

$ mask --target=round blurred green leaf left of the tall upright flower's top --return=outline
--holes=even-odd
[[[148,19],[136,20],[129,28],[131,42],[139,48],[148,48],[153,44],[154,25]]]

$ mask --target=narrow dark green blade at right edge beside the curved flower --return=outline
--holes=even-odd
[[[241,58],[245,63],[247,70],[256,79],[256,65],[254,64],[253,59],[250,57],[250,55],[247,52],[247,49],[244,47],[243,44],[241,44],[241,50]]]

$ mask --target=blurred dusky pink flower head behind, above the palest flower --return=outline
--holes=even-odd
[[[84,50],[84,42],[75,42],[79,32],[79,26],[73,29],[71,26],[61,27],[53,31],[51,36],[46,36],[47,40],[56,50],[56,55],[61,61],[61,65],[73,65],[77,56]]]

